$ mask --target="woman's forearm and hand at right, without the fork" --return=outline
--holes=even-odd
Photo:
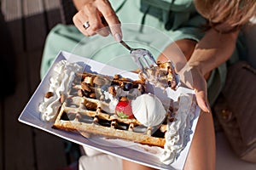
[[[239,31],[220,34],[218,31],[210,29],[196,44],[186,65],[181,71],[178,71],[182,77],[181,80],[189,88],[195,90],[197,104],[202,111],[210,112],[206,75],[230,58],[236,46],[238,33]]]

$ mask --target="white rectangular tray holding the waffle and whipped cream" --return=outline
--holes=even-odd
[[[54,129],[52,128],[52,125],[53,125],[52,122],[43,122],[40,119],[40,112],[38,111],[38,105],[43,101],[44,94],[48,91],[49,78],[52,75],[52,68],[61,59],[67,59],[69,62],[79,62],[80,64],[84,65],[85,70],[90,69],[90,71],[96,71],[98,73],[102,73],[109,76],[113,76],[114,74],[120,74],[124,77],[137,79],[137,74],[131,73],[130,71],[122,71],[112,66],[99,63],[95,60],[86,59],[84,57],[80,57],[75,54],[70,54],[70,53],[61,51],[60,54],[58,54],[58,56],[56,57],[53,65],[51,65],[51,67],[49,68],[49,71],[47,72],[46,76],[44,77],[42,82],[39,84],[37,90],[32,95],[32,98],[27,103],[25,109],[21,112],[19,117],[20,122],[26,123],[27,125],[30,125],[32,127],[38,127],[39,129],[42,129],[48,133],[55,134],[56,136],[59,136],[63,139],[67,139],[71,142],[82,144],[87,147],[100,150],[109,155],[118,156],[122,159],[134,161],[134,162],[146,165],[148,167],[154,167],[159,169],[183,169],[184,162],[189,153],[191,140],[193,139],[193,136],[194,136],[196,123],[198,121],[198,116],[200,112],[200,109],[198,107],[196,108],[196,111],[195,111],[196,117],[194,119],[194,122],[191,128],[193,133],[190,134],[190,141],[188,142],[186,147],[183,149],[180,156],[177,157],[177,160],[174,161],[171,165],[163,164],[162,162],[160,162],[159,158],[156,157],[154,154],[149,153],[147,151],[138,150],[137,147],[133,147],[132,144],[128,145],[127,147],[125,146],[125,143],[124,145],[122,145],[122,143],[119,143],[119,145],[113,146],[113,144],[115,144],[113,143],[113,140],[98,139],[101,142],[101,144],[99,144],[99,142],[95,142],[93,139],[86,139],[78,133],[71,133],[71,132]],[[189,90],[187,88],[178,88],[175,94],[173,94],[173,96],[179,93],[180,90],[186,93],[193,94],[192,90]],[[112,147],[109,147],[109,145]]]

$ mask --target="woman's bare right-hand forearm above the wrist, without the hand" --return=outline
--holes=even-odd
[[[213,29],[207,31],[195,47],[188,61],[190,66],[197,66],[203,75],[224,63],[233,54],[239,31],[220,34]]]

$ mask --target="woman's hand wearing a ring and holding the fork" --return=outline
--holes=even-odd
[[[79,10],[73,16],[73,23],[84,36],[107,37],[111,33],[116,41],[121,41],[120,21],[108,0],[73,0],[73,3]]]

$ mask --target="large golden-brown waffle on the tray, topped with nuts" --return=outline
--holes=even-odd
[[[106,84],[108,89],[105,87]],[[117,87],[122,89],[122,93],[118,92]],[[132,91],[143,94],[144,82],[131,81],[119,75],[107,77],[88,72],[77,73],[73,88],[63,100],[53,127],[164,147],[166,124],[173,121],[172,109],[167,114],[165,122],[154,129],[143,126],[135,118],[120,118],[109,109],[109,99],[106,99],[104,92],[112,94],[114,98],[125,95],[128,99],[134,99],[137,94],[129,93]]]

